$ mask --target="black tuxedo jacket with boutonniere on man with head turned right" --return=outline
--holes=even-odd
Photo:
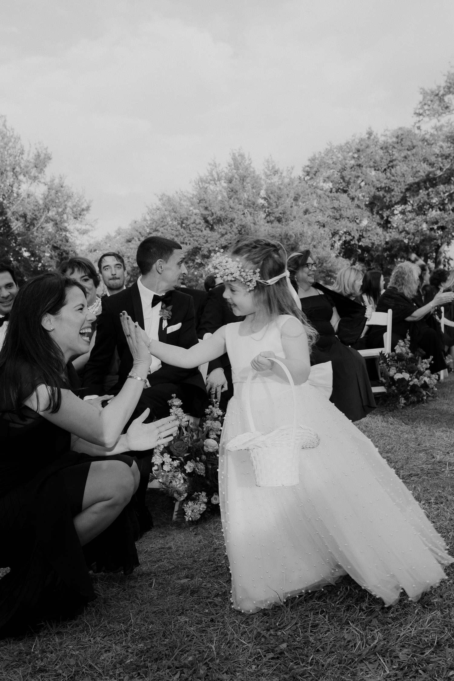
[[[192,298],[187,294],[180,293],[180,291],[172,291],[167,307],[170,305],[172,305],[172,318],[167,319],[167,327],[164,329],[163,318],[159,319],[158,339],[162,343],[170,343],[184,348],[196,345],[199,340],[195,331]],[[113,392],[120,390],[131,371],[133,358],[120,323],[120,313],[123,310],[128,313],[133,321],[137,321],[144,328],[142,299],[137,283],[134,283],[125,291],[120,291],[115,296],[106,296],[102,299],[102,311],[97,319],[95,345],[85,366],[80,393],[82,397],[91,394],[103,394],[104,378],[108,375],[115,348],[120,358],[120,366],[118,368],[118,382],[112,388]],[[178,325],[180,325],[178,329],[172,329]],[[182,369],[163,362],[161,368],[148,375],[148,382],[151,387],[159,385],[159,383],[187,383],[202,390],[206,399],[204,379],[197,368]]]

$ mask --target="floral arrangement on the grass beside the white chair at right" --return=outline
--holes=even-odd
[[[385,383],[385,404],[389,409],[402,409],[433,398],[437,377],[429,371],[430,360],[423,360],[410,351],[410,338],[400,340],[394,352],[380,353],[381,381]]]

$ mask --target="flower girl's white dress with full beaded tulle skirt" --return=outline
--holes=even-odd
[[[233,606],[255,612],[346,573],[386,605],[402,589],[418,599],[445,577],[440,563],[454,559],[372,442],[316,387],[296,386],[301,424],[320,438],[299,454],[299,484],[257,487],[248,452],[226,449],[250,430],[243,395],[250,361],[265,350],[285,356],[280,328],[287,319],[252,336],[240,336],[240,323],[225,328],[234,395],[221,437],[219,488]],[[291,423],[289,383],[272,371],[254,377],[250,402],[257,430]]]

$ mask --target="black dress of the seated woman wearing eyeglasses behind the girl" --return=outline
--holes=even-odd
[[[351,421],[365,417],[376,404],[366,362],[359,352],[341,343],[331,324],[334,305],[328,296],[316,294],[300,298],[302,311],[319,332],[312,348],[311,363],[331,362],[333,392],[331,402]]]

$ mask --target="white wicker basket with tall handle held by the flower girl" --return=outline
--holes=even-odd
[[[250,432],[234,437],[227,443],[230,452],[248,449],[253,464],[257,487],[290,487],[299,483],[299,452],[301,449],[317,447],[319,436],[306,426],[297,426],[297,404],[295,384],[287,366],[278,358],[269,358],[285,371],[293,396],[293,424],[279,426],[270,433],[255,430],[250,409],[250,381],[254,371],[250,370],[244,386],[244,401]]]

